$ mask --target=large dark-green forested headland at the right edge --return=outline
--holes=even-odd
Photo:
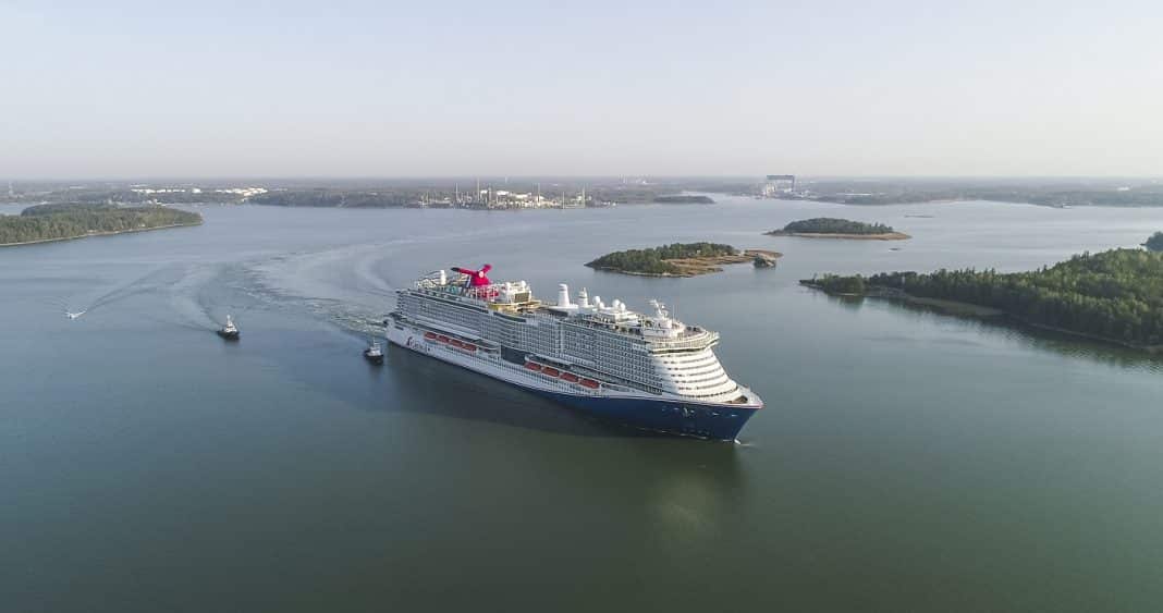
[[[1030,272],[942,269],[870,277],[825,275],[801,283],[841,294],[952,300],[997,308],[1039,327],[1163,348],[1163,252],[1086,252]]]

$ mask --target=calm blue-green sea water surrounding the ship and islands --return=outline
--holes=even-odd
[[[199,211],[0,250],[3,611],[1163,601],[1160,361],[795,283],[1030,269],[1135,245],[1163,209]],[[915,238],[759,234],[818,215]],[[697,240],[785,257],[693,279],[582,265]],[[395,349],[364,363],[394,287],[485,262],[547,297],[666,301],[721,332],[768,407],[740,444],[651,437]],[[227,313],[237,344],[212,332]]]

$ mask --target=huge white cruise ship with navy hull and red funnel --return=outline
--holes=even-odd
[[[719,334],[657,301],[636,313],[562,284],[549,304],[488,265],[450,270],[397,291],[388,342],[647,430],[732,441],[763,407],[719,364]]]

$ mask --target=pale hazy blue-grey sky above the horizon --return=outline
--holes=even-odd
[[[1163,2],[0,0],[0,92],[13,178],[1160,176]]]

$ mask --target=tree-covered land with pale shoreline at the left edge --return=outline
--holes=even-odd
[[[130,231],[197,226],[198,213],[164,206],[55,204],[30,206],[0,216],[0,247],[67,241]]]

